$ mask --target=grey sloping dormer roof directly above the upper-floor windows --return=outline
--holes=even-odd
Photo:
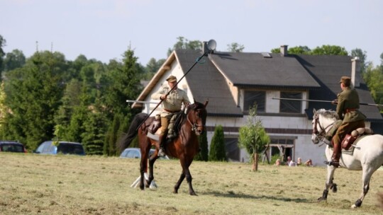
[[[295,57],[281,54],[216,52],[210,59],[238,87],[318,88],[320,85]]]

